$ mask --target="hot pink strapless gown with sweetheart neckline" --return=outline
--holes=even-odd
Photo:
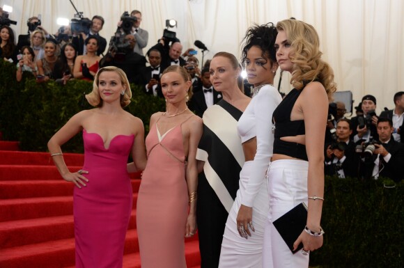
[[[83,130],[83,139],[89,182],[74,191],[76,268],[122,268],[133,196],[126,164],[134,135],[115,136],[109,148],[99,134]]]

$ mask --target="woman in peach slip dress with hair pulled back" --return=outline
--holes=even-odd
[[[166,68],[161,78],[166,112],[150,118],[148,164],[137,199],[142,268],[187,267],[184,236],[196,232],[195,156],[202,135],[201,118],[187,109],[191,84],[185,68]]]

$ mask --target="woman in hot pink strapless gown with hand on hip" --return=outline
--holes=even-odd
[[[132,93],[121,69],[100,69],[95,84],[86,98],[99,108],[72,116],[48,148],[63,179],[75,184],[76,268],[122,268],[133,195],[127,158],[132,152],[134,168],[146,166],[144,129],[139,118],[123,110]],[[71,173],[61,145],[81,130],[84,166]]]

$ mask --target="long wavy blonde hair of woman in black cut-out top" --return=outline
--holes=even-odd
[[[290,43],[290,61],[293,63],[290,84],[302,89],[311,81],[318,80],[323,84],[329,100],[336,91],[334,71],[328,63],[321,59],[320,39],[316,29],[310,24],[296,19],[285,19],[277,23],[278,31],[285,31]]]

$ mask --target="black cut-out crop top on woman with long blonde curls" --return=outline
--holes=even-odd
[[[303,89],[304,88],[302,88],[302,90]],[[290,120],[290,113],[292,112],[297,97],[302,93],[302,90],[293,88],[293,90],[283,98],[282,102],[273,113],[272,122],[275,124],[274,154],[288,155],[307,161],[305,145],[281,140],[281,137],[284,136],[305,134],[304,120]]]

